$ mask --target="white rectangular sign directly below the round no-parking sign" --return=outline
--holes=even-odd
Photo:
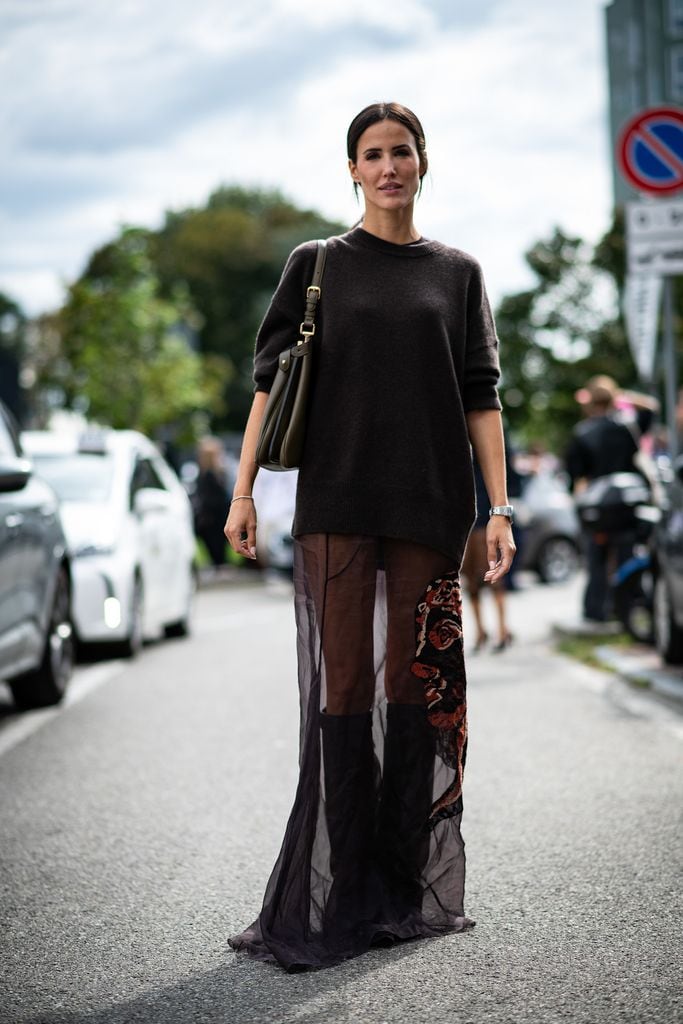
[[[629,272],[683,273],[683,200],[627,203]]]

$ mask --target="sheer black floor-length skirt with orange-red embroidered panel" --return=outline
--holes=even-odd
[[[287,970],[473,925],[458,568],[404,541],[295,542],[299,783],[261,912],[228,941]]]

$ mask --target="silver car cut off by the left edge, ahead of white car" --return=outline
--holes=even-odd
[[[20,708],[57,703],[74,664],[71,564],[52,488],[0,404],[0,679]]]

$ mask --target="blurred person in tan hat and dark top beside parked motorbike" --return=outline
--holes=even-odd
[[[606,375],[592,377],[575,393],[586,419],[574,427],[566,453],[566,471],[571,490],[581,495],[592,481],[612,473],[639,473],[640,440],[652,423],[654,399],[636,392],[621,392]],[[617,411],[617,400],[631,415]],[[584,618],[604,623],[612,617],[609,575],[633,552],[633,538],[609,529],[583,529],[587,582],[583,598]]]

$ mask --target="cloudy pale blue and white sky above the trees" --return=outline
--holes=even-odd
[[[221,183],[349,224],[345,135],[398,99],[425,127],[416,222],[494,299],[555,224],[611,210],[606,0],[0,0],[0,290],[30,313],[121,223]]]

